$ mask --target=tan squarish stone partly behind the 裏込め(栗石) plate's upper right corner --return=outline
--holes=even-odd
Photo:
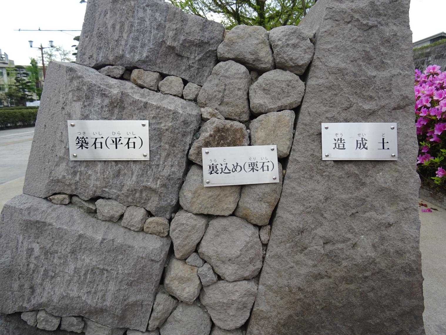
[[[251,121],[251,145],[277,145],[277,157],[289,155],[293,143],[294,112],[284,110],[260,115]]]

